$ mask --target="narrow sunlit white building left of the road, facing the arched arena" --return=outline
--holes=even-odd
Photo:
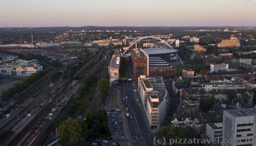
[[[109,75],[110,75],[110,84],[113,81],[119,80],[119,64],[120,64],[120,54],[112,55],[112,59],[110,62]]]

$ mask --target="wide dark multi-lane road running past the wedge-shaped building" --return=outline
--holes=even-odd
[[[132,79],[132,65],[127,64],[129,78]],[[126,138],[129,141],[129,145],[142,145],[143,143],[151,146],[154,145],[155,134],[152,133],[148,120],[146,118],[146,113],[144,107],[140,100],[137,83],[133,81],[120,82],[118,85],[113,86],[111,89],[111,94],[114,94],[114,89],[118,89],[120,92],[121,106],[123,107],[122,112],[126,114],[126,108],[128,108],[127,113],[130,114],[129,119],[124,119],[124,125],[127,121],[128,127],[124,127],[126,131]],[[110,99],[106,100],[106,104],[111,103]]]

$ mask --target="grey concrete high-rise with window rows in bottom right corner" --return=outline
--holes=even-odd
[[[223,146],[252,146],[255,141],[256,109],[236,109],[223,111]]]

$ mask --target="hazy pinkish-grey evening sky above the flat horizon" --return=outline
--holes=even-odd
[[[256,26],[256,0],[0,0],[0,27]]]

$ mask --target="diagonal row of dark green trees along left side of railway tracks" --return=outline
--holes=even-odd
[[[11,88],[6,89],[2,92],[1,98],[4,102],[9,101],[10,99],[15,98],[15,96],[25,89],[27,89],[30,85],[44,77],[48,72],[52,70],[51,67],[47,67],[44,70],[37,71],[32,74],[30,77],[25,78],[22,82],[14,84]]]

